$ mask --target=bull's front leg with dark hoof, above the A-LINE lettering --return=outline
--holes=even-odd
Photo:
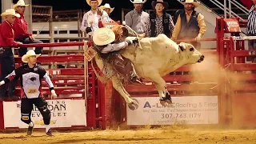
[[[166,102],[168,104],[171,104],[172,101],[170,98],[170,93],[167,90],[167,85],[165,80],[158,73],[153,73],[153,72],[149,74],[148,78],[150,78],[150,80],[154,82],[156,88],[158,89],[160,103],[163,106],[166,106]]]

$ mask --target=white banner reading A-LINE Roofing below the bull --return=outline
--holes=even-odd
[[[217,124],[218,96],[172,97],[172,104],[162,106],[158,97],[133,98],[138,107],[128,106],[127,125]]]

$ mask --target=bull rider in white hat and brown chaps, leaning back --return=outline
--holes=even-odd
[[[111,29],[102,27],[94,32],[94,50],[96,50],[106,62],[112,64],[115,71],[122,74],[125,78],[129,78],[130,82],[138,82],[141,84],[141,79],[138,78],[130,60],[117,53],[118,50],[125,49],[129,45],[138,43],[138,39],[136,38],[133,41],[118,43],[114,43],[115,41],[115,33]]]

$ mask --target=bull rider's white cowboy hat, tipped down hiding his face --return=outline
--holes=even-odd
[[[111,42],[114,42],[115,40],[115,34],[113,30],[102,27],[96,31],[94,31],[93,35],[93,41],[98,46],[104,46],[107,44],[110,44]]]

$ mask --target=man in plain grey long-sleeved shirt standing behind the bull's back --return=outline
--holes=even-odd
[[[130,0],[130,2],[134,3],[134,10],[126,14],[126,25],[130,26],[136,33],[140,34],[140,37],[145,37],[146,22],[150,17],[149,14],[142,10],[142,6],[146,0]]]

